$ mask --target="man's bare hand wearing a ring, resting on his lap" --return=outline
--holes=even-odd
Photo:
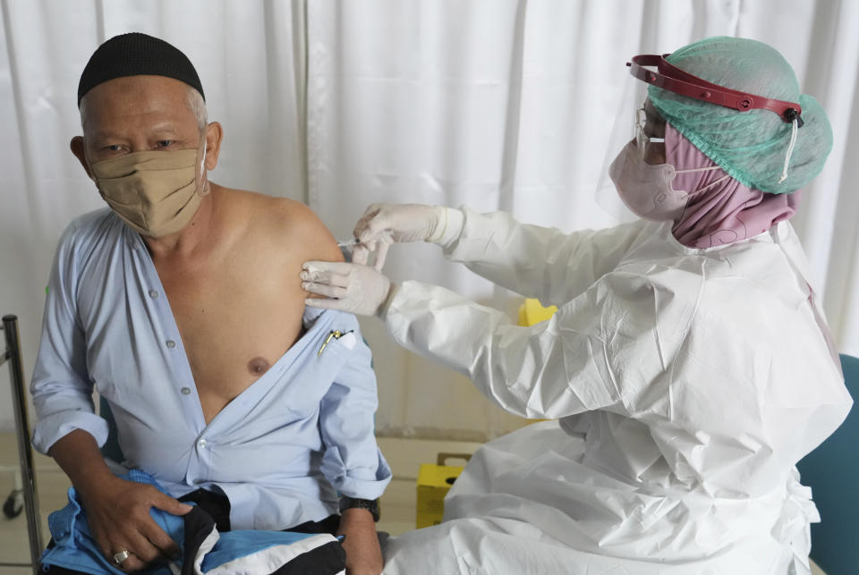
[[[157,507],[173,515],[184,515],[191,505],[179,503],[154,486],[120,478],[106,478],[78,489],[87,512],[89,532],[107,560],[128,551],[130,555],[118,568],[139,571],[154,562],[178,558],[179,546],[158,527],[149,510]]]

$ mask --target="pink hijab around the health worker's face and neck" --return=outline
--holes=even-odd
[[[665,124],[665,161],[677,170],[716,165],[701,150]],[[689,193],[689,203],[671,233],[689,248],[711,248],[766,232],[796,213],[800,192],[770,194],[737,182],[724,170],[677,173],[671,187]],[[721,182],[714,183],[724,178]],[[712,184],[706,190],[702,190]],[[702,190],[702,191],[697,191]]]

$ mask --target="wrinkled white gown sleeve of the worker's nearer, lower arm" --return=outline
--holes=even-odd
[[[548,321],[523,327],[455,292],[404,282],[382,318],[396,342],[469,376],[516,415],[628,415],[636,394],[666,368],[660,327],[685,321],[660,309],[667,300],[660,292],[647,277],[613,272]]]

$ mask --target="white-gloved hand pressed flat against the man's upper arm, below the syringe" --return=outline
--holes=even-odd
[[[327,298],[304,300],[311,308],[339,309],[359,316],[377,316],[391,291],[391,281],[372,267],[308,261],[304,262],[302,268],[302,288]]]

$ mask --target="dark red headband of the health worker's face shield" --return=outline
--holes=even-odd
[[[632,62],[627,62],[629,73],[639,80],[645,81],[669,92],[681,96],[693,97],[704,102],[710,102],[717,106],[733,108],[738,112],[748,110],[770,110],[778,114],[784,122],[791,123],[796,120],[796,127],[803,126],[800,114],[803,108],[794,102],[783,102],[769,97],[754,96],[735,89],[725,88],[719,84],[713,84],[698,76],[693,76],[671,65],[665,59],[666,55],[642,54],[634,56]],[[659,72],[647,70],[644,66],[656,67]]]

